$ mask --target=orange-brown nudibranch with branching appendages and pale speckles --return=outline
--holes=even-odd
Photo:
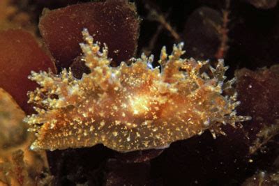
[[[80,44],[82,61],[91,70],[76,79],[71,70],[31,72],[40,88],[29,92],[38,114],[27,116],[36,133],[31,149],[65,149],[104,144],[120,152],[165,148],[173,141],[221,132],[220,125],[246,121],[236,116],[236,93],[223,95],[235,79],[224,82],[227,67],[222,60],[206,73],[208,61],[181,59],[183,43],[171,55],[165,47],[160,67],[153,56],[142,54],[127,65],[110,66],[108,49],[93,42],[84,29]],[[202,72],[204,71],[204,72]]]

